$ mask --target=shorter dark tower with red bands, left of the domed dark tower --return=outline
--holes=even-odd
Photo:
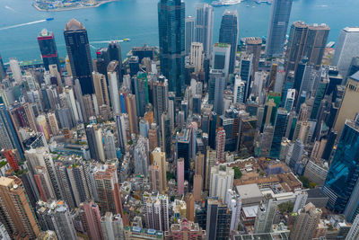
[[[45,69],[48,70],[48,65],[57,65],[57,70],[60,72],[60,63],[58,61],[57,46],[54,39],[54,33],[43,29],[38,36],[39,50],[41,52],[42,61]]]

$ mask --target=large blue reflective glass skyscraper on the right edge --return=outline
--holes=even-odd
[[[323,192],[327,208],[352,221],[359,207],[359,118],[346,120],[337,151],[330,164]]]

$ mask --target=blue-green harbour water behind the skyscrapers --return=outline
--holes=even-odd
[[[212,1],[184,0],[184,2],[186,16],[195,16],[197,4],[210,4]],[[90,42],[130,39],[120,43],[122,55],[126,57],[127,52],[134,46],[158,45],[157,3],[158,0],[118,0],[96,8],[39,12],[31,5],[32,0],[1,0],[0,55],[4,58],[4,62],[9,58],[17,58],[20,61],[40,59],[37,36],[46,28],[54,32],[59,56],[65,58],[63,31],[66,22],[75,18],[83,22]],[[244,0],[241,4],[215,7],[214,42],[218,40],[219,26],[225,9],[238,11],[240,38],[267,35],[271,5]],[[337,41],[341,29],[346,26],[359,26],[358,9],[359,0],[293,0],[290,22],[327,23],[330,27],[328,41]],[[47,18],[54,20],[38,22]],[[29,24],[2,30],[22,23]],[[95,58],[95,49],[106,45],[106,43],[91,43],[92,58]]]

